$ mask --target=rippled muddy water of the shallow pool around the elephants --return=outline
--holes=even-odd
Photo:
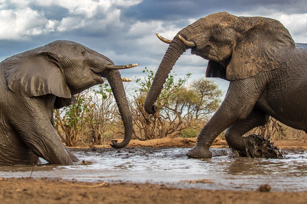
[[[0,167],[1,177],[62,178],[165,184],[181,188],[256,190],[269,184],[271,191],[307,190],[307,152],[286,151],[284,159],[231,158],[229,149],[212,148],[212,159],[188,159],[189,148],[75,149],[77,166]]]

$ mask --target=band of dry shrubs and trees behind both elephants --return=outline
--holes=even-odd
[[[165,138],[176,131],[180,132],[180,137],[197,137],[220,106],[222,90],[214,81],[199,78],[187,86],[190,74],[181,79],[173,73],[157,100],[157,113],[150,115],[144,110],[144,102],[154,72],[145,68],[143,73],[144,80],[136,79],[136,86],[128,91],[126,88],[133,117],[133,139]],[[107,83],[86,90],[76,98],[76,104],[55,110],[55,129],[65,145],[99,145],[124,137],[122,119]],[[224,133],[220,134],[221,138]],[[306,140],[304,131],[292,129],[274,118],[247,134],[252,133],[274,140]]]

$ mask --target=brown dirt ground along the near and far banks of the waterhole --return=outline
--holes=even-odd
[[[131,141],[129,147],[188,147],[196,138]],[[307,150],[304,141],[276,141],[280,148]],[[107,147],[107,145],[103,145]],[[216,139],[212,147],[227,146]],[[100,146],[102,147],[102,146]],[[95,148],[95,147],[90,147]],[[0,203],[306,203],[307,192],[180,189],[165,185],[86,183],[76,181],[0,177]]]

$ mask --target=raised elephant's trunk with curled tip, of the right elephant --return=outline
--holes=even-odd
[[[168,74],[171,72],[180,55],[182,55],[188,49],[188,47],[178,38],[178,35],[186,36],[186,33],[182,33],[182,31],[179,32],[171,41],[158,67],[157,73],[155,74],[153,83],[146,97],[144,109],[149,114],[154,114],[157,112],[157,108],[154,103],[157,101],[161,93],[163,84],[166,82]]]

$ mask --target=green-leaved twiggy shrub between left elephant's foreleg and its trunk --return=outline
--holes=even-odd
[[[57,133],[69,147],[76,146],[80,141],[84,144],[101,144],[103,133],[113,123],[116,112],[109,84],[91,87],[75,97],[76,104],[55,110]]]

